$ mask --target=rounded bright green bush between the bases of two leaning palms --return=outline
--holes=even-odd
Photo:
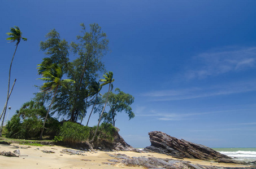
[[[64,122],[60,127],[60,137],[68,144],[81,143],[90,137],[90,127],[83,126],[78,123]]]

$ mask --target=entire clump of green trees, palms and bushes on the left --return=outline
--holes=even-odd
[[[85,25],[81,24],[82,34],[77,36],[76,42],[70,43],[60,38],[55,29],[46,34],[46,40],[40,42],[40,49],[45,52],[46,57],[37,68],[38,74],[42,75],[39,79],[45,82],[37,86],[40,91],[31,101],[24,103],[8,121],[5,127],[6,137],[12,140],[52,139],[55,143],[68,145],[89,141],[99,145],[102,141],[111,143],[114,140],[116,113],[125,111],[129,119],[134,117],[130,106],[134,98],[119,89],[116,89],[119,94],[111,92],[113,73],[107,72],[103,74],[103,79],[99,79],[99,74],[106,71],[101,59],[109,50],[109,40],[98,24],[90,24],[89,27],[86,30]],[[11,35],[7,39],[17,41],[17,49],[20,40],[27,39],[21,37],[18,27],[15,28],[11,28],[12,33],[7,33]],[[14,56],[12,60],[13,58]],[[109,90],[104,95],[99,94],[106,84],[109,84]],[[10,74],[7,102],[11,94],[9,88]],[[2,115],[5,118],[7,102],[1,118]],[[105,110],[106,105],[110,106],[109,113]],[[88,121],[83,126],[88,109]],[[100,117],[97,126],[89,127],[92,112],[99,113]],[[59,119],[62,119],[61,122]],[[25,144],[38,143],[29,140]]]

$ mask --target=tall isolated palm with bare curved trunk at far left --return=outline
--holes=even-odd
[[[7,35],[10,36],[10,37],[6,38],[6,40],[11,40],[10,42],[16,42],[16,44],[15,44],[16,48],[15,48],[15,51],[14,51],[14,55],[12,56],[11,65],[10,65],[10,69],[9,69],[7,99],[6,99],[6,103],[5,103],[5,106],[3,108],[3,112],[2,112],[3,121],[5,120],[6,108],[7,108],[8,100],[10,98],[9,91],[10,91],[10,78],[11,78],[12,61],[14,60],[14,56],[15,56],[15,53],[17,51],[17,48],[18,48],[18,45],[19,45],[21,39],[23,41],[27,41],[27,38],[24,38],[24,37],[21,36],[22,32],[20,32],[20,28],[18,26],[14,26],[14,27],[15,28],[10,28],[10,32],[6,33]],[[1,118],[2,118],[2,115],[1,115]],[[0,136],[2,136],[3,121],[2,121],[1,129],[0,129]]]

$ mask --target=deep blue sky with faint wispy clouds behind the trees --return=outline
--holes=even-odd
[[[12,64],[8,119],[42,84],[36,68],[46,57],[45,35],[55,28],[76,41],[81,23],[98,23],[110,41],[102,61],[114,88],[135,98],[135,117],[120,113],[116,120],[128,144],[144,148],[148,132],[162,131],[211,148],[256,147],[255,7],[253,0],[1,1],[1,112],[15,50],[6,40],[11,27],[28,41]]]

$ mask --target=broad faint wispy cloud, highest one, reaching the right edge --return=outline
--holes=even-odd
[[[256,65],[256,47],[225,47],[193,57],[192,66],[185,73],[187,79],[206,78],[223,73],[241,71]]]

